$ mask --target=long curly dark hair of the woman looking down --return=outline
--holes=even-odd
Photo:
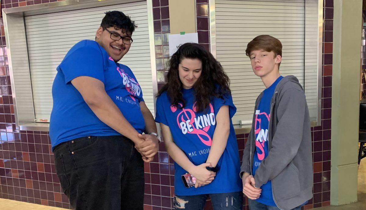
[[[202,73],[193,85],[194,97],[197,111],[203,111],[208,108],[213,98],[224,99],[224,95],[231,94],[229,89],[229,77],[224,72],[220,62],[217,61],[211,53],[197,43],[185,43],[179,46],[178,50],[169,60],[169,70],[167,74],[167,83],[161,88],[156,96],[160,96],[164,91],[170,98],[173,106],[180,107],[185,102],[182,96],[182,81],[179,79],[178,66],[184,58],[198,59],[202,62]]]

